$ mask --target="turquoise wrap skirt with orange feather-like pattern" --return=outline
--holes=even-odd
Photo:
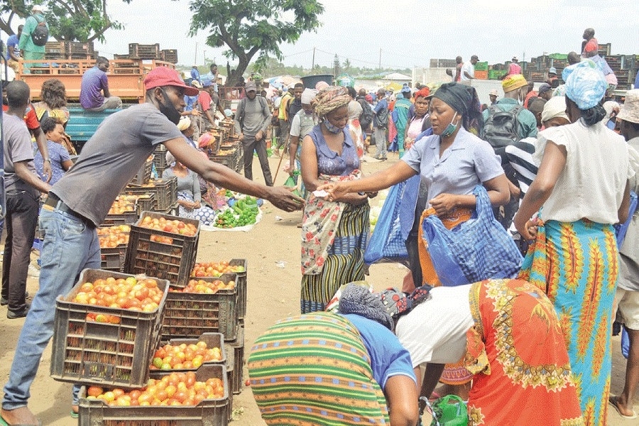
[[[612,225],[582,219],[539,226],[520,278],[555,306],[586,425],[605,425],[619,252]]]

